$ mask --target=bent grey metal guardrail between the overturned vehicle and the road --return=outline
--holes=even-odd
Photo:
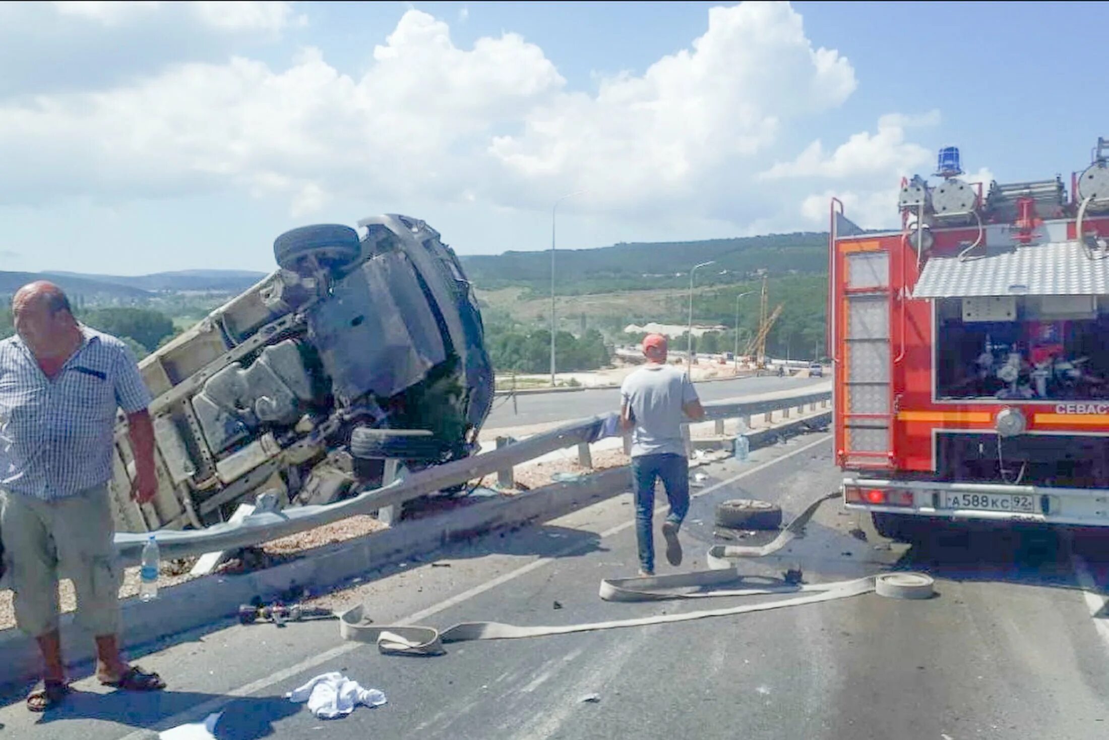
[[[831,398],[831,392],[824,392],[743,403],[705,404],[705,418],[715,420],[718,432],[723,433],[724,419],[750,418],[753,415],[773,412],[783,412],[787,417],[792,408],[801,408],[804,405],[815,408],[816,404],[826,405]],[[621,436],[615,418],[615,414],[606,414],[569,422],[550,432],[500,446],[488,453],[419,470],[388,486],[367,490],[335,504],[295,506],[279,511],[255,510],[251,516],[234,524],[225,523],[205,529],[181,531],[160,530],[153,534],[157,538],[163,559],[258,545],[347,517],[397,506],[492,473],[510,470],[516,465],[566,447],[579,445],[579,448],[583,448],[584,458],[589,454],[589,444],[604,437]],[[139,562],[142,547],[150,534],[115,535],[115,548],[122,565]]]

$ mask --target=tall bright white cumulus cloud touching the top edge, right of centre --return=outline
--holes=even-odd
[[[538,184],[543,197],[572,187],[622,206],[690,196],[722,164],[749,168],[783,121],[840,105],[856,87],[847,60],[814,49],[787,3],[713,8],[692,47],[602,80],[596,95],[550,100],[491,154],[513,186]]]

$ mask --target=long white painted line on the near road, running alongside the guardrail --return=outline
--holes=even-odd
[[[832,439],[832,435],[827,435],[825,437],[822,437],[821,439],[816,439],[814,442],[811,442],[807,445],[804,445],[803,447],[798,447],[798,448],[796,448],[794,450],[791,450],[791,452],[786,453],[785,455],[782,455],[781,457],[775,457],[774,459],[766,460],[765,463],[760,463],[759,465],[754,466],[753,468],[750,468],[747,470],[743,470],[741,473],[737,473],[734,476],[732,476],[731,478],[729,478],[726,480],[722,480],[722,481],[718,483],[714,486],[710,486],[709,488],[705,488],[704,490],[699,490],[696,493],[691,493],[690,494],[690,498],[699,498],[699,497],[704,496],[706,494],[710,494],[710,493],[712,493],[714,490],[719,490],[720,488],[723,488],[724,486],[731,485],[731,484],[735,483],[736,480],[740,480],[740,479],[745,478],[747,476],[754,475],[755,473],[761,473],[762,470],[765,470],[766,468],[771,467],[772,465],[776,465],[777,463],[781,463],[783,460],[787,460],[791,457],[794,457],[796,455],[801,455],[802,453],[807,452],[808,449],[812,449],[816,445],[822,445],[825,442],[828,442],[831,439]],[[665,507],[667,507],[665,504],[661,504],[658,507],[655,507],[654,513],[659,514],[660,511],[664,510]],[[624,529],[629,529],[629,528],[633,527],[634,525],[635,525],[635,520],[634,519],[631,519],[631,520],[625,521],[623,524],[617,525],[614,527],[611,527],[611,528],[606,529],[604,531],[602,531],[600,534],[600,538],[604,539],[607,537],[611,537],[612,535],[619,534],[619,533],[623,531]],[[461,594],[457,594],[457,595],[450,597],[449,599],[445,599],[445,600],[439,601],[438,604],[436,604],[434,606],[430,606],[430,607],[428,607],[426,609],[421,609],[420,611],[417,611],[416,614],[409,615],[408,617],[399,620],[397,624],[398,625],[409,625],[409,624],[415,624],[415,622],[421,621],[421,620],[424,620],[424,619],[426,619],[428,617],[431,617],[434,615],[439,614],[440,611],[449,609],[452,606],[461,604],[462,601],[468,601],[468,600],[472,599],[475,596],[480,596],[481,594],[485,594],[488,590],[497,588],[498,586],[500,586],[502,584],[507,584],[510,580],[515,580],[515,579],[519,578],[520,576],[526,576],[527,574],[531,572],[532,570],[538,570],[539,568],[543,567],[545,565],[547,565],[549,562],[553,562],[554,560],[557,560],[557,559],[559,559],[561,557],[566,557],[567,555],[571,555],[576,550],[580,550],[583,547],[586,547],[584,543],[577,543],[574,545],[570,545],[569,547],[564,547],[561,550],[559,550],[558,553],[556,553],[554,555],[551,555],[551,556],[548,556],[548,557],[545,557],[545,558],[539,558],[538,560],[532,560],[531,562],[529,562],[529,564],[527,564],[525,566],[520,566],[519,568],[517,568],[515,570],[509,570],[508,572],[501,574],[500,576],[497,576],[496,578],[494,578],[491,580],[487,580],[484,584],[478,584],[474,588],[467,589],[467,590],[462,591]],[[1109,630],[1109,625],[1106,625],[1106,629]],[[217,711],[218,709],[221,709],[221,708],[225,707],[226,704],[231,703],[231,701],[234,700],[234,699],[240,699],[240,698],[243,698],[243,697],[248,697],[252,693],[256,693],[258,691],[262,691],[263,689],[267,689],[267,688],[274,686],[275,683],[282,683],[284,681],[287,681],[287,680],[289,680],[291,678],[293,678],[295,676],[299,676],[301,673],[304,673],[304,672],[306,672],[306,671],[308,671],[308,670],[311,670],[313,668],[316,668],[316,667],[322,666],[322,665],[324,665],[326,662],[335,660],[336,658],[338,658],[340,656],[345,656],[346,653],[352,652],[353,650],[357,650],[358,648],[362,648],[362,647],[365,647],[365,643],[363,643],[363,642],[354,642],[354,641],[344,642],[343,645],[339,645],[339,646],[337,646],[335,648],[332,648],[330,650],[327,650],[325,652],[321,652],[317,656],[313,656],[312,658],[306,658],[305,660],[302,660],[301,662],[296,663],[295,666],[289,666],[288,668],[283,668],[283,669],[281,669],[278,671],[275,671],[275,672],[271,673],[269,676],[266,676],[264,678],[260,678],[256,681],[251,681],[250,683],[241,686],[237,689],[232,689],[231,691],[228,691],[227,693],[223,695],[222,697],[216,697],[214,699],[210,699],[208,701],[205,701],[204,703],[201,703],[201,704],[199,704],[196,707],[193,707],[192,709],[186,709],[185,711],[179,712],[179,713],[174,714],[173,717],[169,717],[169,718],[162,720],[161,722],[157,722],[154,727],[152,727],[150,729],[136,730],[134,732],[125,734],[122,738],[120,738],[120,740],[149,740],[150,737],[151,737],[151,732],[152,731],[160,732],[162,730],[166,730],[166,729],[172,728],[172,727],[177,727],[179,724],[184,724],[186,722],[196,721],[197,718],[207,717],[212,712]]]

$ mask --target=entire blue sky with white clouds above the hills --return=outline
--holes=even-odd
[[[896,221],[1109,135],[1100,3],[0,2],[0,270],[273,267],[376,213],[462,254]]]

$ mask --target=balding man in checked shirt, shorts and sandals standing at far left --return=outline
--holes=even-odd
[[[128,417],[132,497],[157,491],[150,394],[130,349],[74,317],[44,281],[12,300],[16,336],[0,341],[0,535],[19,628],[35,638],[44,670],[27,697],[44,711],[69,692],[58,631],[58,574],[73,581],[77,619],[95,638],[101,683],[165,688],[120,655],[120,568],[108,481],[115,414]]]

